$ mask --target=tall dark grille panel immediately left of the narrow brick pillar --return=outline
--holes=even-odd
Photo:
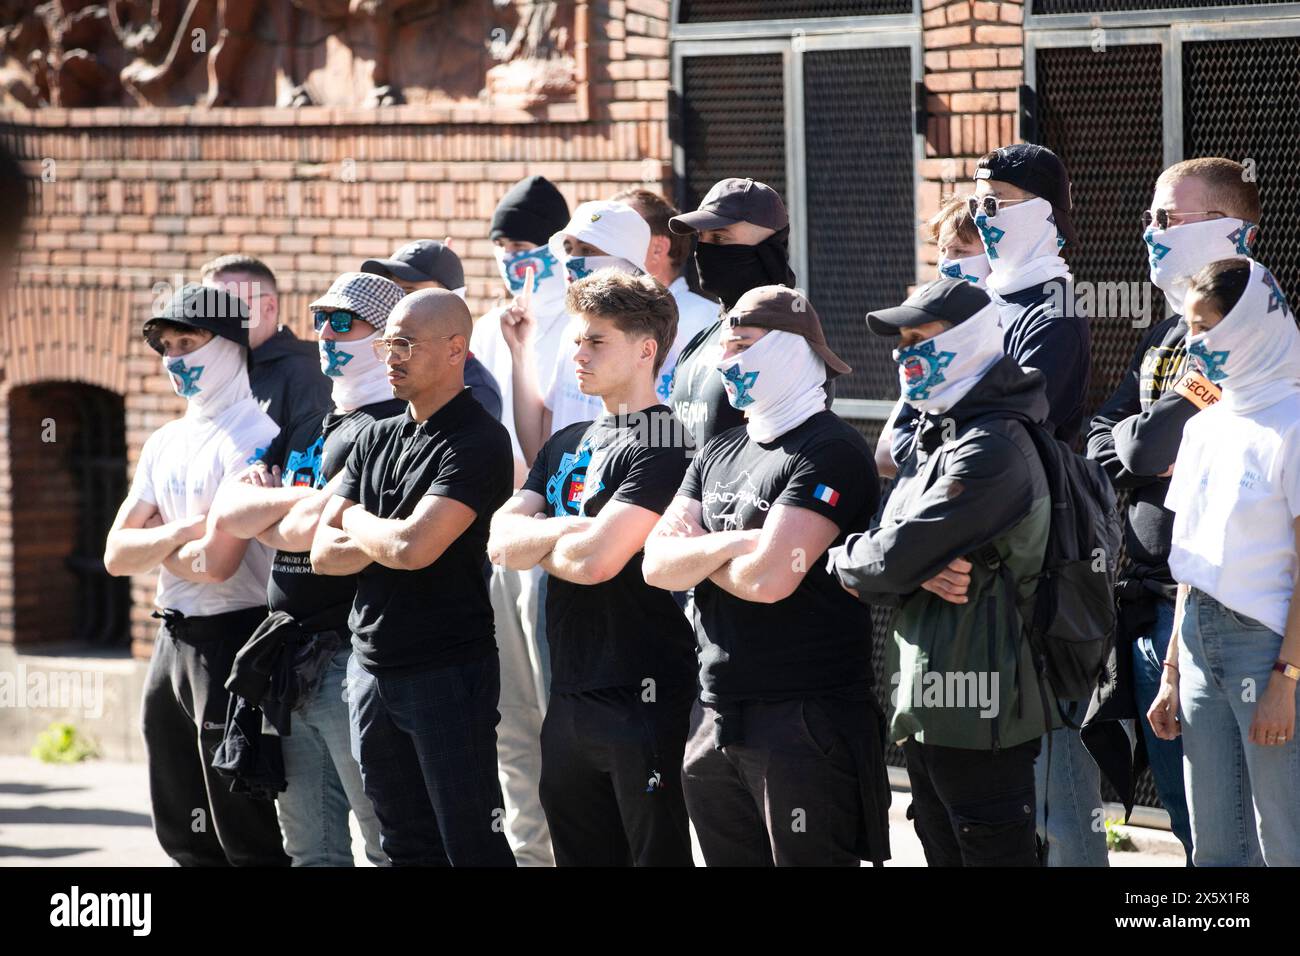
[[[911,95],[906,47],[803,57],[806,281],[831,347],[853,365],[841,398],[898,394],[892,345],[864,316],[907,298],[915,277]]]

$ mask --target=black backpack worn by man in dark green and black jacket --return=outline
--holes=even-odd
[[[1088,700],[1115,635],[1123,532],[1115,492],[1097,462],[1044,425],[1024,423],[1043,462],[1052,522],[1043,553],[1030,646],[1058,700]]]

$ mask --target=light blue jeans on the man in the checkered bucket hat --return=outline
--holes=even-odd
[[[347,719],[347,659],[344,646],[325,669],[320,687],[302,710],[295,710],[290,735],[281,737],[289,790],[276,799],[285,852],[294,866],[351,866],[352,834],[348,809],[365,838],[365,856],[387,866],[380,849],[380,821],[361,787],[361,769],[352,757]]]

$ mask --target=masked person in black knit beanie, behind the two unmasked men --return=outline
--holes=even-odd
[[[541,176],[516,182],[497,204],[489,238],[497,269],[511,297],[520,297],[528,271],[533,272],[530,307],[537,320],[533,341],[533,373],[545,381],[555,367],[567,313],[564,267],[547,242],[568,222],[564,196]],[[474,323],[469,347],[488,367],[502,390],[502,424],[510,432],[515,457],[515,488],[528,477],[528,464],[515,429],[514,365],[502,336],[502,315],[494,308]],[[493,614],[497,619],[497,649],[500,654],[500,724],[497,754],[506,796],[506,834],[520,866],[551,866],[555,858],[546,830],[546,814],[537,795],[542,773],[541,731],[546,715],[549,649],[541,620],[543,572],[533,567],[511,571],[493,564]]]

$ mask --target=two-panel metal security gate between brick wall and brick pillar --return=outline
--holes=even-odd
[[[916,278],[916,8],[679,0],[673,27],[679,206],[693,208],[729,176],[781,193],[798,284],[854,368],[837,384],[836,411],[871,432],[897,380],[864,316],[901,302]]]

